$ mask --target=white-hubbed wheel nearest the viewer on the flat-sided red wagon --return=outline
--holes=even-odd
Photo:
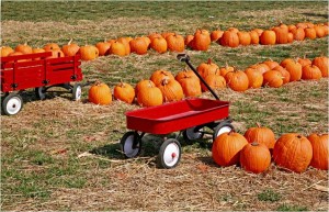
[[[158,165],[162,168],[173,168],[181,159],[181,144],[174,140],[166,140],[158,155]]]

